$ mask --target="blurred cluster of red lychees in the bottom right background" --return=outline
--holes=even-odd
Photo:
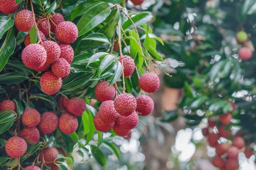
[[[207,136],[208,144],[216,149],[217,155],[212,159],[212,164],[220,169],[236,170],[238,168],[239,152],[243,151],[246,158],[250,158],[253,152],[252,148],[245,147],[245,141],[241,136],[242,131],[238,131],[232,136],[230,128],[227,127],[231,123],[232,113],[235,110],[235,103],[232,101],[229,101],[229,103],[233,110],[220,115],[218,127],[216,121],[209,120],[208,127],[203,128],[202,133]],[[214,133],[214,127],[217,127],[218,132],[215,131],[216,133]],[[221,142],[220,137],[226,138],[228,141]]]

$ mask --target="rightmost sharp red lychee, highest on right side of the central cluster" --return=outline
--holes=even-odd
[[[160,79],[156,73],[145,73],[139,79],[140,88],[148,93],[155,92],[160,86]]]

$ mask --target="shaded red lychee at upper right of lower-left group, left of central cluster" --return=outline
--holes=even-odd
[[[68,102],[68,111],[76,116],[81,116],[86,110],[86,102],[84,99],[78,99],[77,97],[72,97]]]

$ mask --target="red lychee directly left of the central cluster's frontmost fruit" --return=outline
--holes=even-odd
[[[113,123],[118,117],[118,113],[114,106],[114,101],[104,101],[99,107],[100,119],[106,123]]]

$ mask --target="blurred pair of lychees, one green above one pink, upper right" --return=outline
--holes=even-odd
[[[240,45],[244,45],[244,47],[240,48],[238,51],[238,55],[240,59],[246,61],[252,57],[252,50],[245,45],[248,42],[248,35],[244,31],[240,31],[236,34],[236,41]]]

